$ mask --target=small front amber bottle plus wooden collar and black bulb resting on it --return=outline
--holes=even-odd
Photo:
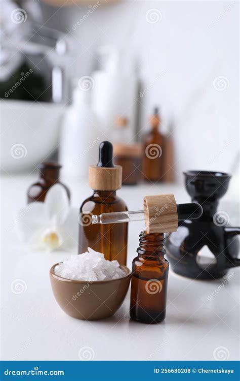
[[[132,319],[148,324],[165,319],[169,264],[164,258],[164,233],[176,231],[186,215],[191,219],[202,212],[199,204],[177,205],[173,195],[144,198],[146,231],[140,234],[138,257],[132,265]]]

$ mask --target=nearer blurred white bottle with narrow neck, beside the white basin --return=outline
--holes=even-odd
[[[90,97],[90,90],[74,88],[72,105],[63,118],[59,147],[63,177],[87,179],[89,166],[98,161],[99,143],[104,139]]]

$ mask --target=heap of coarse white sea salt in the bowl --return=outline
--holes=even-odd
[[[117,261],[105,260],[101,252],[90,247],[83,254],[59,263],[54,272],[62,278],[88,281],[118,279],[126,275]]]

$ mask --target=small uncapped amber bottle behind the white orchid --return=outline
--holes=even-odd
[[[59,172],[61,165],[58,163],[42,163],[39,164],[37,169],[39,171],[39,180],[29,186],[27,190],[27,202],[44,202],[48,190],[54,184],[61,184],[67,192],[67,196],[70,200],[70,191],[66,185],[60,182]]]

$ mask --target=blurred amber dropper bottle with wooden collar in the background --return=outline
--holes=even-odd
[[[148,181],[161,181],[164,174],[163,145],[164,136],[159,132],[161,118],[158,109],[155,108],[154,115],[150,118],[150,131],[143,137],[143,177]]]

